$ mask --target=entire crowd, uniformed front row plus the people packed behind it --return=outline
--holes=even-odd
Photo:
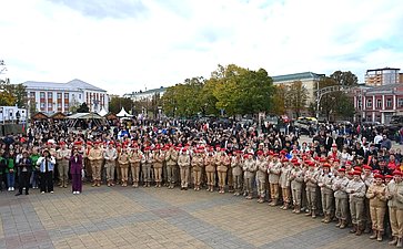
[[[402,247],[403,156],[387,131],[356,126],[345,133],[329,125],[319,127],[312,142],[300,143],[298,134],[270,124],[133,120],[114,125],[74,132],[36,122],[27,134],[3,137],[0,189],[46,194],[57,183],[71,184],[78,195],[88,180],[92,187],[233,193],[321,216],[356,236],[372,232],[371,239],[382,241],[387,235],[390,245]]]

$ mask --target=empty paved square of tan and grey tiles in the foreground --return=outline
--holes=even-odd
[[[84,186],[0,194],[0,248],[391,248],[231,194]]]

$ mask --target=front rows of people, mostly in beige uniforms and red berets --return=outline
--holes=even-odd
[[[77,139],[47,143],[40,149],[17,148],[13,154],[13,149],[2,151],[0,162],[9,190],[13,188],[11,175],[18,176],[17,195],[23,189],[28,195],[30,184],[37,186],[37,177],[41,193],[53,193],[56,169],[59,186],[68,187],[71,179],[73,194],[82,191],[83,174],[91,176],[95,187],[101,186],[105,173],[110,187],[130,183],[158,188],[178,184],[183,190],[190,186],[194,190],[218,188],[220,194],[256,197],[258,203],[291,208],[294,214],[305,211],[312,218],[323,215],[322,222],[335,220],[341,229],[351,225],[351,232],[357,236],[372,230],[370,238],[379,241],[390,227],[390,245],[401,248],[403,242],[402,166],[382,156],[349,160],[335,144],[320,154],[296,146],[271,151],[263,143],[256,148],[229,149],[206,144],[138,144],[130,139],[84,144]]]

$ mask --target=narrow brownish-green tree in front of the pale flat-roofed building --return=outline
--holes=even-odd
[[[301,81],[294,81],[286,92],[286,98],[289,107],[292,112],[300,117],[301,112],[306,107],[308,90],[304,87]]]

